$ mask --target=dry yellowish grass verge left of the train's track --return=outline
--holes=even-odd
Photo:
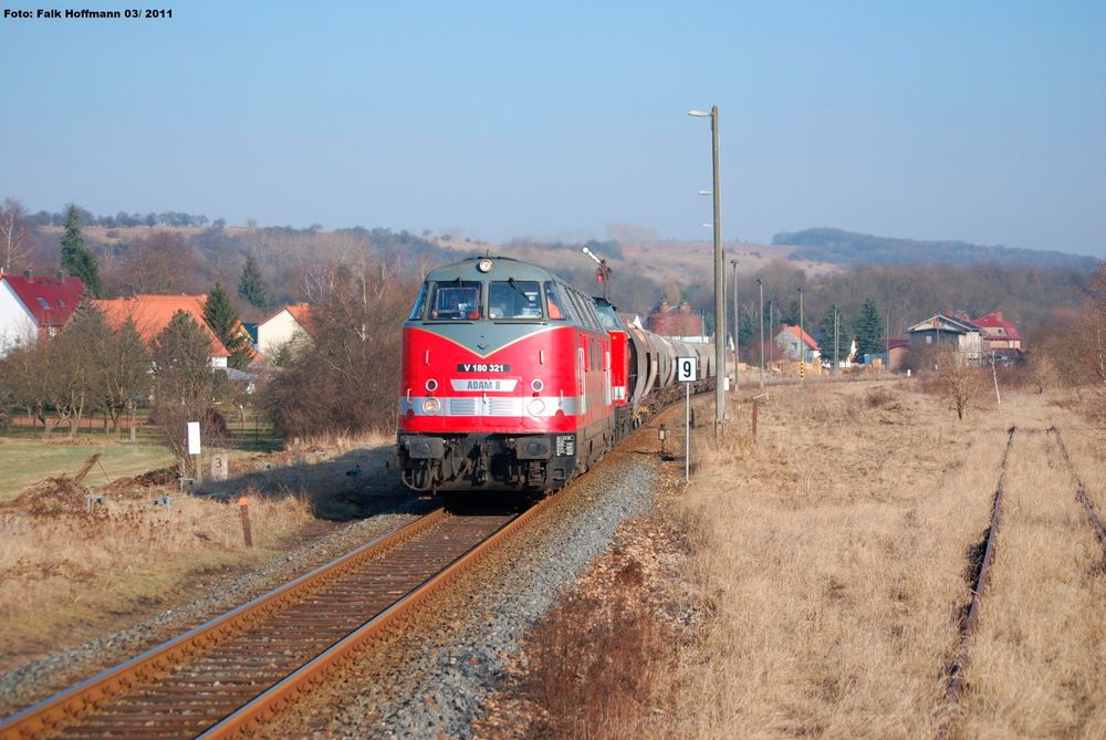
[[[92,514],[0,513],[0,670],[171,604],[206,573],[271,557],[312,517],[302,498],[254,496],[250,519],[253,550],[236,504],[188,496],[167,508],[108,497]]]

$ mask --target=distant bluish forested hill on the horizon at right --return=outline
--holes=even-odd
[[[791,259],[830,262],[838,265],[860,264],[979,264],[1002,262],[1037,268],[1094,270],[1093,257],[1048,252],[1012,247],[984,247],[966,241],[916,241],[876,237],[841,229],[804,229],[781,232],[772,243],[792,247]]]

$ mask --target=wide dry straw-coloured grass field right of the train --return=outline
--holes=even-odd
[[[721,442],[697,429],[690,486],[641,525],[647,540],[598,566],[646,574],[604,600],[657,602],[651,621],[638,607],[582,618],[570,600],[508,690],[530,703],[492,725],[545,718],[536,729],[551,737],[931,738],[946,722],[953,738],[1106,736],[1104,554],[1046,430],[1062,428],[1099,512],[1102,432],[1060,398],[984,400],[958,423],[905,381],[776,388],[757,439],[748,398]],[[953,707],[970,563],[1011,426],[1006,513]],[[588,615],[617,627],[588,628]],[[608,665],[559,669],[563,655]]]

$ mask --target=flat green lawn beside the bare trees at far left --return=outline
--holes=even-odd
[[[101,458],[84,478],[91,487],[173,463],[173,455],[160,445],[122,444],[93,435],[77,439],[67,442],[64,432],[50,441],[0,437],[0,502],[14,499],[43,478],[76,473],[93,452],[100,452]]]

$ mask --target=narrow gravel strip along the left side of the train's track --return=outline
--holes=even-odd
[[[171,639],[359,544],[414,521],[436,504],[407,496],[382,497],[380,512],[315,538],[244,575],[211,584],[209,595],[168,609],[132,627],[23,665],[0,676],[0,717],[41,701],[150,647]]]

